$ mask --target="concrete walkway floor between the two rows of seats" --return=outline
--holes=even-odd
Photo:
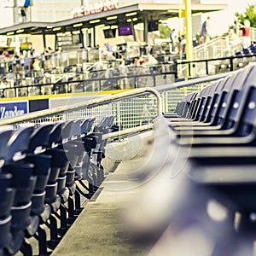
[[[144,158],[125,160],[108,174],[96,201],[85,202],[53,256],[148,255],[152,245],[134,242],[123,229],[125,208],[140,189],[129,174],[144,163]]]

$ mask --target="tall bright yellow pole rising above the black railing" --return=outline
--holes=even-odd
[[[193,61],[191,0],[184,0],[184,1],[185,1],[185,20],[186,20],[186,60]]]

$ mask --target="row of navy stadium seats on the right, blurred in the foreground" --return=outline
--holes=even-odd
[[[175,228],[183,231],[195,224],[214,241],[211,255],[254,255],[255,81],[251,63],[183,97],[176,113],[165,116],[175,137],[172,145],[179,148],[175,152],[186,152],[166,166],[182,162],[187,174],[183,203],[178,214],[168,215],[168,223],[174,219]],[[212,217],[212,202],[224,209],[222,217]]]

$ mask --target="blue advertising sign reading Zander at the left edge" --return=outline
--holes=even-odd
[[[14,117],[28,113],[27,102],[4,102],[0,103],[0,119]]]

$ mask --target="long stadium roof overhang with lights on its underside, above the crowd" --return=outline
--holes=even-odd
[[[227,4],[191,4],[192,15],[200,15],[226,8]],[[56,34],[59,32],[73,32],[75,30],[91,28],[101,24],[104,26],[113,26],[131,21],[133,24],[137,24],[145,22],[145,20],[167,20],[178,17],[181,13],[181,9],[184,9],[181,4],[137,3],[118,9],[102,11],[93,15],[83,15],[69,20],[20,23],[15,26],[1,28],[0,35],[45,35]]]

